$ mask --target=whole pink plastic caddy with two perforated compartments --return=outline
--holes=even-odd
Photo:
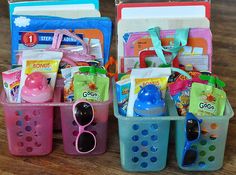
[[[81,155],[76,151],[75,141],[79,134],[72,106],[73,103],[61,102],[61,88],[56,88],[54,100],[51,103],[8,103],[5,92],[1,94],[5,123],[7,129],[8,147],[11,154],[16,156],[43,156],[52,151],[53,145],[53,118],[59,124],[61,116],[64,151],[70,155]],[[97,141],[96,148],[89,154],[98,155],[107,148],[107,127],[110,99],[102,103],[92,103],[94,121],[86,128],[94,133]]]

